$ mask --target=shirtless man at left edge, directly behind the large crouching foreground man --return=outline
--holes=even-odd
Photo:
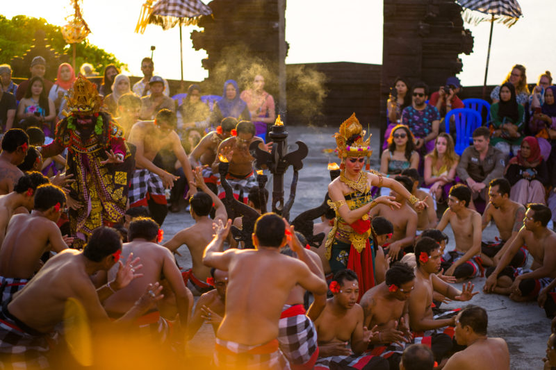
[[[41,267],[46,251],[60,253],[73,242],[63,237],[56,222],[65,208],[65,194],[54,185],[40,185],[31,215],[12,217],[0,249],[2,301],[23,289]]]

